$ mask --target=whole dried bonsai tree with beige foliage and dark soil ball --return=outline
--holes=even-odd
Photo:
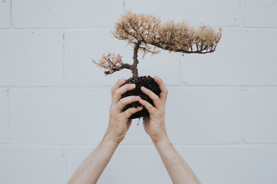
[[[122,98],[130,95],[139,95],[152,105],[153,101],[142,93],[140,88],[144,86],[157,95],[159,95],[160,89],[154,78],[150,76],[139,77],[137,69],[139,51],[143,53],[143,57],[148,52],[152,55],[158,54],[160,51],[157,48],[169,50],[169,52],[182,52],[183,56],[184,53],[205,54],[214,52],[221,38],[221,28],[216,33],[214,29],[204,24],[194,28],[189,27],[187,21],[175,23],[171,20],[161,23],[160,18],[152,14],[135,14],[130,10],[120,16],[115,23],[115,30],[111,31],[111,33],[115,38],[125,40],[128,45],[133,46],[133,64],[123,63],[121,60],[122,56],[116,55],[114,52],[108,52],[108,55],[104,53],[98,63],[93,59],[92,62],[100,68],[105,68],[107,71],[104,74],[106,75],[113,74],[124,68],[131,70],[133,76],[126,80],[126,84],[134,83],[136,88],[132,91],[127,91],[127,93],[122,95]],[[134,102],[127,105],[122,111],[138,106],[140,106],[139,102]],[[145,108],[132,114],[130,118],[135,119],[144,116],[149,116],[149,112]]]

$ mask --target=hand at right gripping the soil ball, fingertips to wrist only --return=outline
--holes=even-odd
[[[139,99],[139,103],[143,105],[149,112],[149,117],[143,117],[143,127],[145,132],[150,136],[151,140],[156,143],[164,138],[167,138],[165,131],[165,102],[167,96],[167,89],[162,79],[157,76],[154,77],[155,82],[159,85],[161,93],[156,95],[151,90],[141,87],[141,91],[148,95],[154,102],[154,106],[143,99]]]

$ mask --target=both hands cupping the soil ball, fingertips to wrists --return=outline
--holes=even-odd
[[[154,106],[141,99],[139,96],[129,96],[120,99],[122,94],[134,89],[136,85],[123,85],[126,81],[125,79],[118,80],[115,83],[111,89],[112,103],[110,107],[109,124],[105,138],[108,138],[110,141],[120,143],[124,139],[132,123],[132,119],[129,119],[129,117],[143,108],[146,108],[150,114],[149,117],[143,117],[143,127],[152,141],[159,142],[164,138],[167,138],[164,122],[167,89],[160,78],[155,76],[154,80],[159,85],[161,90],[159,96],[149,89],[141,87],[141,91],[153,100]],[[139,102],[142,106],[137,108],[132,107],[124,112],[121,111],[124,106],[132,102]]]

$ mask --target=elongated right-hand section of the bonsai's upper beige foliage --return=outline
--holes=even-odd
[[[222,29],[216,33],[208,25],[198,28],[189,27],[186,21],[175,23],[173,20],[162,23],[153,34],[145,40],[148,44],[164,50],[182,53],[205,54],[214,52],[221,38]]]

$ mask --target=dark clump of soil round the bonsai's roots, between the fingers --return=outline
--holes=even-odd
[[[137,78],[130,78],[130,79],[126,80],[125,84],[135,84],[136,88],[131,90],[131,91],[127,91],[126,93],[121,95],[121,98],[132,96],[132,95],[134,95],[134,96],[140,96],[141,99],[146,100],[147,102],[149,102],[153,106],[154,106],[153,101],[151,100],[151,98],[149,96],[147,96],[146,94],[144,94],[141,91],[141,87],[144,86],[147,89],[150,89],[156,95],[159,95],[160,92],[161,92],[161,90],[159,88],[159,85],[155,82],[154,78],[152,78],[150,76],[142,76],[142,77],[137,77]],[[126,105],[122,109],[122,111],[125,111],[125,110],[127,110],[128,108],[131,108],[131,107],[136,107],[137,108],[138,106],[141,106],[141,104],[139,102],[133,102],[132,104]],[[148,110],[146,108],[143,108],[143,110],[132,114],[130,119],[136,119],[136,118],[141,118],[141,117],[145,117],[145,116],[149,116],[149,112],[148,112]]]

